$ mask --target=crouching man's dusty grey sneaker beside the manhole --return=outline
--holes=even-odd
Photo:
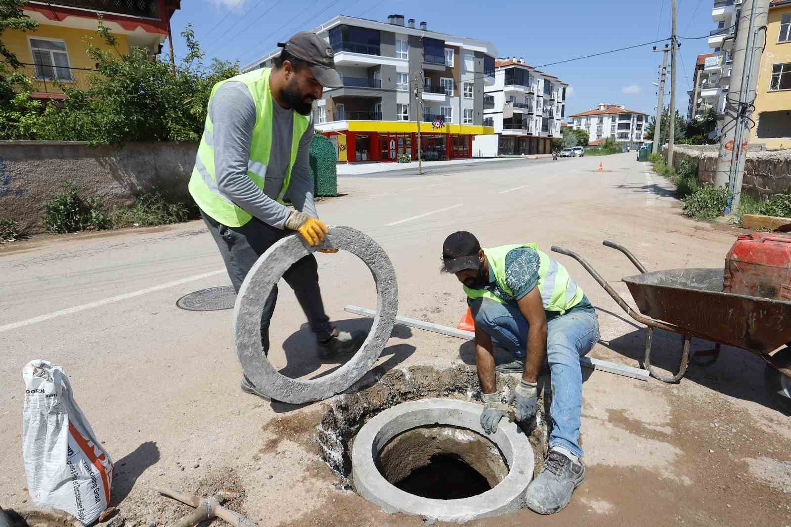
[[[585,465],[550,450],[544,466],[524,491],[524,504],[539,514],[554,514],[569,504],[575,488],[585,480]]]

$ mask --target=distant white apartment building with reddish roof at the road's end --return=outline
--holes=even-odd
[[[619,104],[601,103],[596,108],[569,116],[574,130],[585,130],[589,145],[596,146],[607,138],[615,138],[623,147],[636,150],[642,146],[648,128],[648,114],[628,110]]]

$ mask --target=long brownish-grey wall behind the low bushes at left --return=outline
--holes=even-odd
[[[26,234],[44,232],[44,202],[73,181],[83,198],[110,208],[162,191],[189,199],[187,181],[197,143],[129,143],[121,148],[86,142],[0,141],[0,218],[17,220]]]

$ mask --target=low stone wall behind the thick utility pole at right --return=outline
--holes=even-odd
[[[698,181],[713,183],[717,172],[716,145],[706,149],[699,147],[676,146],[673,149],[673,166],[689,159],[698,163]],[[667,146],[662,147],[664,157],[668,156]],[[766,198],[791,191],[791,150],[747,150],[747,161],[744,163],[744,180],[742,189],[754,197]]]

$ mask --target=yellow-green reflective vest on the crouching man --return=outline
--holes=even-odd
[[[566,271],[566,267],[539,251],[538,244],[501,245],[500,247],[483,249],[483,254],[489,262],[490,270],[494,274],[494,279],[501,290],[513,297],[513,291],[505,283],[505,256],[512,249],[522,247],[535,249],[539,253],[541,264],[539,265],[538,288],[545,311],[557,312],[562,315],[580,303],[585,296],[582,288],[577,286],[577,282],[574,282],[571,278],[569,271]],[[490,298],[505,304],[504,299],[485,289],[471,289],[464,286],[464,292],[467,293],[467,297],[472,299]]]

